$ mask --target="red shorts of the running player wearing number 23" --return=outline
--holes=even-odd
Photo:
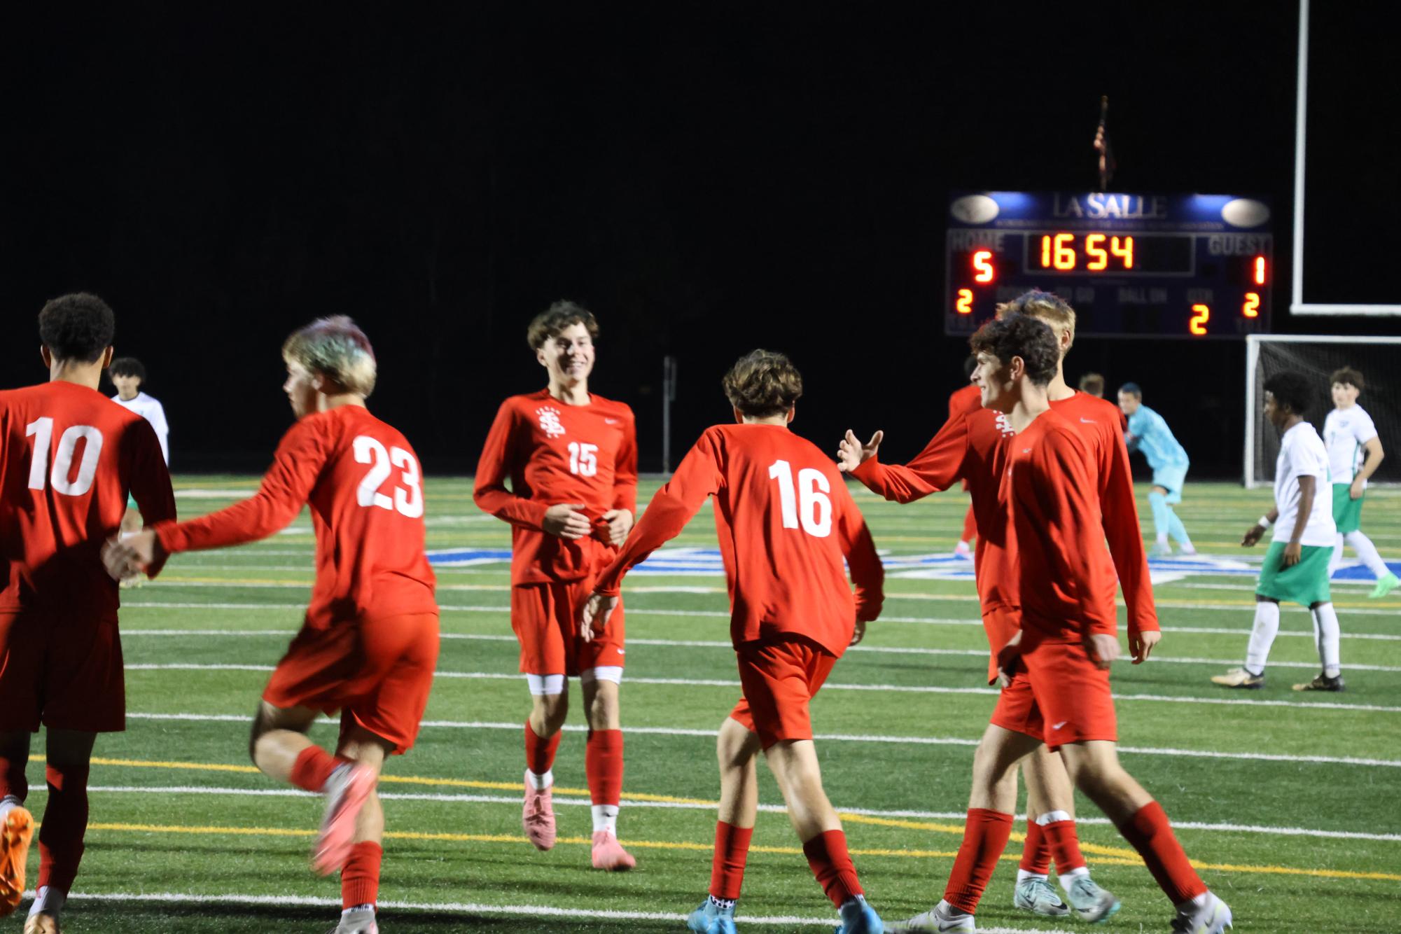
[[[419,735],[437,650],[437,613],[303,626],[268,679],[263,700],[284,709],[339,710],[342,737],[364,727],[402,755]]]

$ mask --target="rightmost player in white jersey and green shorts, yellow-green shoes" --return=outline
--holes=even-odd
[[[1342,543],[1346,541],[1367,566],[1377,585],[1370,597],[1386,597],[1401,584],[1387,563],[1377,555],[1377,546],[1362,532],[1362,500],[1367,492],[1367,478],[1376,473],[1386,454],[1381,438],[1367,410],[1358,405],[1362,395],[1362,374],[1344,367],[1330,378],[1332,384],[1332,412],[1323,423],[1323,440],[1328,447],[1328,478],[1332,480],[1332,521],[1338,535],[1332,546],[1330,570],[1342,563]]]

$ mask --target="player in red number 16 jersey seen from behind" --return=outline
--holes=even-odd
[[[737,424],[706,428],[657,490],[581,612],[580,636],[607,639],[623,574],[675,538],[715,497],[730,588],[730,637],[744,696],[720,725],[720,819],[710,892],[688,927],[734,931],[758,811],[755,756],[764,752],[818,884],[842,916],[838,931],[878,934],[822,791],[808,702],[848,646],[880,615],[884,570],[842,475],[787,430],[803,378],[787,357],[755,350],[724,378]],[[853,597],[842,560],[856,583]]]

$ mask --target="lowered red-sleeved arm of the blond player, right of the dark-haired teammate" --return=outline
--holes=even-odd
[[[1110,444],[1100,458],[1100,517],[1128,606],[1129,654],[1133,655],[1133,664],[1140,664],[1163,636],[1157,625],[1157,609],[1153,606],[1153,580],[1143,552],[1138,504],[1133,501],[1129,452],[1118,423],[1112,423],[1108,434]]]

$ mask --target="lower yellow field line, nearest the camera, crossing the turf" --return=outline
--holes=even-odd
[[[181,833],[193,836],[266,836],[266,837],[311,837],[315,830],[289,828],[227,828],[227,826],[179,826],[164,823],[90,823],[90,830],[113,830],[125,833]],[[527,843],[523,836],[506,833],[422,833],[415,830],[387,830],[387,840],[415,840],[426,843]],[[591,846],[590,837],[560,837],[556,843],[569,846]],[[709,853],[709,843],[665,842],[665,840],[628,840],[628,846],[636,850],[682,850],[693,853]],[[782,856],[801,856],[803,850],[793,846],[751,846],[752,853],[773,853]],[[853,849],[852,856],[864,857],[892,857],[918,860],[951,860],[958,856],[955,850],[866,850]],[[1003,854],[1003,860],[1020,860],[1016,854]],[[1142,860],[1107,857],[1098,860],[1105,865],[1142,865]],[[1198,863],[1192,860],[1192,867],[1216,872],[1251,872],[1268,875],[1306,875],[1324,879],[1369,879],[1380,882],[1401,882],[1401,875],[1394,872],[1353,872],[1349,870],[1299,870],[1289,865],[1238,865],[1233,863]]]

